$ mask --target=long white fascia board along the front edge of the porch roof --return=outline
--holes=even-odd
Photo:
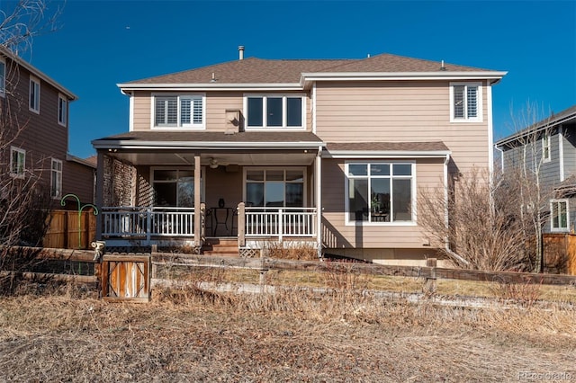
[[[191,145],[193,144],[193,145]],[[130,140],[109,140],[97,139],[92,141],[96,149],[276,149],[276,148],[318,148],[325,147],[326,144],[318,141],[314,142],[189,142],[189,141],[130,141]]]

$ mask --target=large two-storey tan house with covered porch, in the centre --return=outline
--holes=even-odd
[[[226,236],[240,253],[307,240],[381,263],[434,255],[418,192],[491,166],[491,90],[506,72],[239,53],[118,85],[130,129],[93,141],[99,237],[200,250]]]

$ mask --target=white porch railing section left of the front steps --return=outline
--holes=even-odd
[[[193,208],[105,207],[103,236],[193,236]]]

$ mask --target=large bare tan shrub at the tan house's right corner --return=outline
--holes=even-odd
[[[533,233],[518,207],[513,183],[502,174],[492,177],[488,171],[473,169],[449,191],[420,191],[419,225],[456,267],[527,269],[534,263]]]

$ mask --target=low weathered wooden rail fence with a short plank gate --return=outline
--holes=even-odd
[[[94,263],[94,275],[49,274],[23,272],[27,278],[46,277],[56,281],[85,283],[99,287],[102,298],[110,301],[148,302],[151,280],[157,278],[157,268],[166,264],[188,267],[224,267],[302,272],[358,272],[372,275],[422,278],[434,286],[436,280],[489,281],[503,283],[535,283],[545,285],[572,285],[576,276],[530,272],[482,272],[447,269],[435,266],[396,266],[375,263],[340,263],[333,261],[291,261],[272,258],[237,258],[196,254],[105,254],[94,259],[94,251],[67,249],[38,249],[39,257],[46,260]],[[10,272],[0,272],[0,276]]]

